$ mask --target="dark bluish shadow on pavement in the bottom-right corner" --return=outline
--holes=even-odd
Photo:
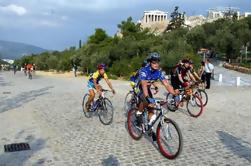
[[[221,142],[235,155],[251,163],[251,144],[224,131],[217,131]]]

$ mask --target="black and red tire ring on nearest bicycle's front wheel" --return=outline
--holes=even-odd
[[[178,126],[178,124],[173,121],[172,119],[169,119],[169,118],[165,118],[164,119],[164,123],[165,124],[162,124],[162,122],[160,122],[158,124],[158,127],[157,127],[157,144],[158,144],[158,147],[159,147],[159,150],[160,150],[160,153],[168,158],[168,159],[175,159],[177,158],[180,153],[182,152],[182,148],[183,148],[183,137],[182,137],[182,133],[181,133],[181,130]],[[168,135],[166,134],[166,129],[164,129],[164,125],[168,125]],[[174,151],[174,153],[170,152],[170,146],[168,146],[168,148],[165,147],[165,145],[167,145],[167,143],[162,143],[162,139],[169,139],[169,141],[167,142],[171,142],[170,141],[170,138],[172,139],[173,136],[171,136],[170,134],[170,126],[173,126],[173,129],[177,132],[177,137],[176,139],[174,139],[174,141],[178,141],[177,143],[177,147],[176,147],[176,151]],[[163,132],[163,134],[165,134],[164,136],[162,136],[162,131],[165,130]],[[164,137],[164,138],[163,138]]]

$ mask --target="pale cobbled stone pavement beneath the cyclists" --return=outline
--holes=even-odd
[[[150,139],[129,136],[122,111],[128,82],[112,81],[114,121],[104,126],[81,112],[84,78],[28,80],[12,74],[0,73],[0,166],[251,165],[250,87],[213,86],[199,118],[183,109],[169,113],[181,128],[184,147],[168,160]],[[14,142],[29,142],[32,150],[4,153],[3,146]]]

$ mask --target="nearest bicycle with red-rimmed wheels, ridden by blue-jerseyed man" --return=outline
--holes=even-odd
[[[178,124],[165,115],[163,106],[166,104],[167,103],[163,100],[155,100],[156,106],[152,109],[157,115],[156,119],[150,125],[148,124],[147,119],[147,108],[144,109],[143,113],[140,115],[143,121],[140,125],[137,124],[137,109],[132,108],[129,110],[127,115],[127,127],[130,136],[134,140],[139,140],[143,134],[147,135],[152,133],[154,130],[153,126],[159,121],[156,129],[159,150],[164,157],[168,159],[175,159],[182,151],[183,138]]]

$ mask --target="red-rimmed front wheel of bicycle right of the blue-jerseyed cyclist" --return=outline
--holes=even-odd
[[[197,118],[203,111],[203,104],[199,96],[193,94],[187,100],[187,111],[192,116]]]

